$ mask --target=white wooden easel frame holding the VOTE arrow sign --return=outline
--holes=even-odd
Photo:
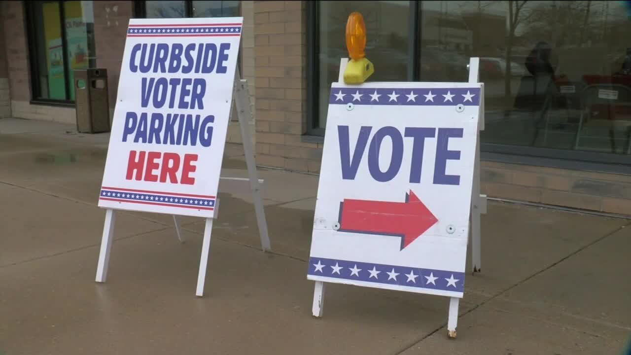
[[[343,83],[343,73],[348,64],[348,58],[342,58],[339,61],[338,83]],[[480,58],[472,57],[468,64],[469,83],[479,82]],[[480,131],[484,129],[484,85],[480,92],[480,118],[478,121],[478,139],[475,152],[475,166],[473,169],[473,187],[471,188],[471,226],[469,226],[469,236],[472,244],[471,259],[473,263],[473,272],[481,270],[481,253],[480,253],[480,215],[487,213],[487,195],[480,195]],[[324,287],[322,281],[315,281],[314,299],[312,304],[312,314],[320,318],[324,311]],[[447,332],[450,338],[456,337],[456,326],[458,322],[458,306],[460,299],[457,297],[449,298],[449,315],[447,317]]]

